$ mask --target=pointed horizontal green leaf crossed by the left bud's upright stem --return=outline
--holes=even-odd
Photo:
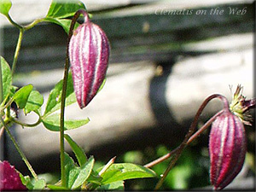
[[[59,113],[54,113],[49,116],[43,117],[42,121],[44,126],[49,131],[60,131],[60,117]],[[79,128],[82,125],[87,124],[90,119],[73,119],[73,120],[65,120],[64,122],[64,130],[73,130]]]

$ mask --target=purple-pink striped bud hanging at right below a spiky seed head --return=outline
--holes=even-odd
[[[244,126],[230,110],[212,123],[209,141],[210,178],[214,189],[224,189],[241,171],[247,151]]]

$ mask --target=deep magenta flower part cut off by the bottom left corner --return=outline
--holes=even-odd
[[[2,190],[26,190],[19,173],[6,160],[0,161],[0,191]]]

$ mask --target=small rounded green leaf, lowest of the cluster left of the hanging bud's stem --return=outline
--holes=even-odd
[[[43,103],[44,97],[38,92],[38,90],[32,90],[32,92],[28,96],[24,111],[26,114],[32,111],[37,111],[38,108],[41,108]]]

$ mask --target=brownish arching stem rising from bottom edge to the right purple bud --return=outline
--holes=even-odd
[[[166,172],[164,172],[163,177],[160,178],[160,181],[156,184],[154,190],[160,189],[160,186],[164,183],[164,180],[166,179],[168,173],[171,171],[172,167],[175,165],[177,159],[180,157],[183,149],[187,146],[187,143],[189,141],[189,138],[192,136],[193,132],[195,131],[195,127],[197,125],[198,119],[200,118],[200,115],[204,108],[206,108],[207,103],[210,102],[213,98],[219,98],[224,102],[224,108],[229,108],[229,102],[226,99],[226,97],[219,95],[219,94],[213,94],[212,96],[208,96],[207,99],[201,104],[200,108],[198,109],[197,113],[195,114],[195,119],[193,120],[192,124],[189,127],[189,131],[185,135],[183,139],[183,143],[181,143],[174,153],[172,153],[174,156],[169,164],[169,166],[166,169]]]

